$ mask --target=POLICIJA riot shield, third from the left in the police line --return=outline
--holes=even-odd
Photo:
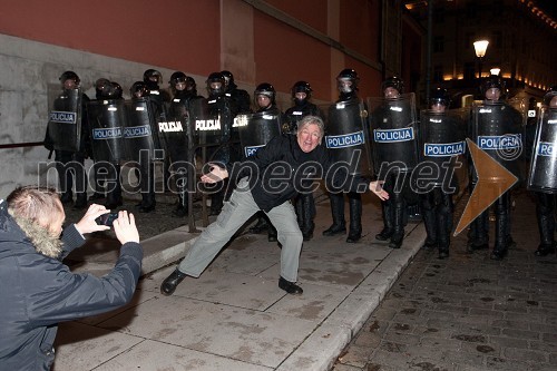
[[[148,156],[149,160],[163,159],[164,148],[158,137],[157,121],[160,116],[155,117],[150,98],[134,98],[126,100],[125,105],[128,113],[123,131],[125,159],[139,162],[140,156]]]

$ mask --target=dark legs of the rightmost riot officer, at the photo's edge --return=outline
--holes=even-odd
[[[536,193],[536,217],[539,228],[539,245],[536,256],[555,253],[555,195]]]

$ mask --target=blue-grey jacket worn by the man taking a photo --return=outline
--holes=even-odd
[[[71,225],[63,231],[61,241],[66,256],[85,238]],[[49,370],[55,360],[52,344],[58,322],[126,304],[135,292],[141,258],[140,245],[127,243],[109,274],[74,274],[59,260],[38,253],[9,215],[6,202],[1,202],[0,369]]]

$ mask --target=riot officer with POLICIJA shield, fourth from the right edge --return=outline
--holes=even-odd
[[[375,235],[375,240],[390,240],[389,247],[400,248],[404,238],[408,199],[413,195],[409,174],[418,162],[413,129],[416,104],[412,95],[410,98],[403,96],[404,81],[397,76],[387,78],[381,90],[383,99],[371,115],[374,166],[392,197],[381,203],[383,230]],[[383,165],[389,168],[389,164],[397,166],[382,174]]]

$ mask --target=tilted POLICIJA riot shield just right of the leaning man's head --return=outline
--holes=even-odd
[[[334,162],[349,164],[350,175],[371,175],[368,110],[359,99],[321,106],[324,144]]]

